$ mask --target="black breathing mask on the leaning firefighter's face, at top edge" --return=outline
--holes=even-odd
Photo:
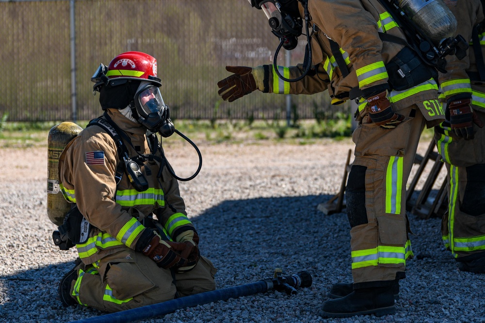
[[[283,3],[283,6],[275,0],[261,1],[258,5],[254,0],[248,1],[252,6],[262,9],[268,18],[273,34],[283,42],[283,48],[287,50],[296,48],[303,26],[297,1],[287,1],[287,3]]]

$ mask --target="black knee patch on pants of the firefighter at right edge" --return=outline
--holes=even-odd
[[[478,216],[485,214],[485,164],[467,167],[467,187],[463,194],[461,211]]]

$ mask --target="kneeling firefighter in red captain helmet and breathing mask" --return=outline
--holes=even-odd
[[[177,131],[157,61],[122,53],[92,81],[104,114],[59,157],[59,186],[71,209],[54,241],[75,244],[79,254],[59,284],[63,305],[115,312],[214,290],[216,269],[199,253],[179,178],[156,136]]]

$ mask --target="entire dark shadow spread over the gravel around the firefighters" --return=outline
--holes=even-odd
[[[347,215],[324,215],[317,210],[318,204],[330,198],[329,195],[310,195],[226,200],[192,217],[200,236],[201,254],[219,270],[217,288],[273,277],[275,268],[281,268],[284,275],[305,270],[313,278],[312,287],[297,295],[275,292],[246,298],[251,301],[243,303],[244,310],[261,311],[270,301],[276,305],[268,307],[278,308],[283,317],[288,316],[288,322],[325,322],[318,317],[318,308],[327,299],[326,292],[336,282],[352,281]],[[396,303],[398,314],[384,321],[485,322],[474,320],[484,314],[484,275],[456,269],[451,253],[442,246],[440,219],[422,220],[411,214],[409,218],[417,257],[406,262],[410,279],[401,283],[400,300]],[[52,244],[52,252],[63,251]],[[0,277],[4,291],[0,294],[4,302],[0,305],[0,323],[70,322],[105,314],[81,306],[61,307],[57,285],[72,266],[73,262],[49,264]],[[150,322],[200,322],[197,321],[200,311],[204,311],[207,319],[204,322],[244,322],[227,319],[228,312],[241,309],[241,302],[217,302],[209,307],[177,311]],[[465,306],[463,312],[455,310]],[[342,322],[356,321],[351,318]],[[362,322],[375,321],[365,317]]]

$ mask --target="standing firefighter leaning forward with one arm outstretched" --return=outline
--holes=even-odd
[[[332,286],[328,296],[335,299],[323,303],[320,315],[394,313],[399,280],[405,277],[406,259],[413,255],[406,183],[424,125],[433,127],[445,117],[437,100],[437,70],[445,66],[445,54],[453,52],[448,45],[463,43],[444,42],[449,48],[436,49],[436,60],[425,62],[408,39],[411,32],[400,25],[400,15],[384,4],[387,0],[248,1],[262,9],[281,43],[272,65],[226,66],[234,74],[218,82],[224,100],[232,102],[256,90],[280,94],[328,90],[334,105],[349,98],[359,103],[353,134],[356,157],[346,187],[354,282]],[[439,6],[437,1],[427,2]],[[456,21],[445,9],[435,8],[433,16],[424,20],[435,20],[442,12],[441,18],[451,27],[444,35],[450,37]],[[278,50],[294,48],[304,24],[305,61],[277,66]]]

